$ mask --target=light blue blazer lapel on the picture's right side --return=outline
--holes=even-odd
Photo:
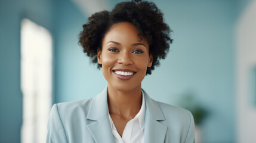
[[[167,126],[159,122],[161,120],[165,120],[164,114],[162,113],[158,103],[152,100],[145,91],[143,92],[146,102],[144,128],[145,142],[164,142]]]

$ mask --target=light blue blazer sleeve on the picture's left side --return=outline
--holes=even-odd
[[[47,125],[47,143],[67,142],[66,132],[63,123],[61,122],[58,112],[58,105],[54,104],[51,108],[50,117]]]

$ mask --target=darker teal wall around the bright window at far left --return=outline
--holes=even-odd
[[[0,1],[0,142],[20,142],[20,22],[30,18],[53,31],[53,2]]]

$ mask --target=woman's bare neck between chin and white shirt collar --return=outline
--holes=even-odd
[[[117,91],[108,86],[108,106],[109,113],[119,115],[125,119],[133,119],[142,104],[141,87],[132,91]]]

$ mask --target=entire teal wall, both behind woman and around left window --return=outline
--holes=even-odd
[[[116,1],[111,0],[112,5]],[[209,114],[203,122],[203,142],[235,141],[236,18],[249,0],[155,1],[174,32],[166,60],[146,76],[150,97],[179,105],[193,92]],[[54,102],[91,98],[106,80],[78,45],[88,15],[69,0],[0,0],[0,142],[20,142],[20,21],[30,18],[54,38]]]

